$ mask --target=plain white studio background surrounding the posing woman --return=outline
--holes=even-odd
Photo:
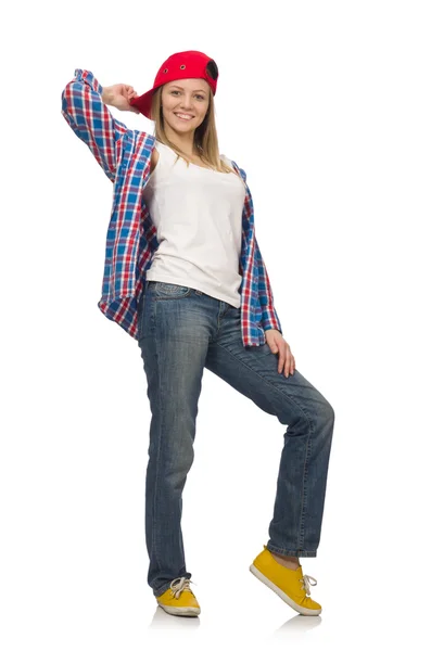
[[[3,22],[0,596],[4,651],[370,648],[424,640],[430,578],[429,3],[25,3]],[[249,565],[284,427],[205,371],[183,492],[199,618],[147,585],[150,410],[135,340],[98,309],[112,184],[61,115],[76,67],[152,87],[219,68],[220,152],[248,174],[296,367],[335,430],[297,615]],[[152,132],[141,115],[112,113]],[[296,648],[296,647],[295,647]]]

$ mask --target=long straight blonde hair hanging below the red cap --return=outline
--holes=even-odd
[[[186,161],[187,167],[191,161],[166,136],[164,119],[162,114],[162,88],[160,86],[154,92],[151,102],[151,119],[154,120],[154,136],[163,144],[170,146],[178,157]],[[217,129],[215,125],[214,95],[210,88],[210,103],[203,123],[194,131],[194,146],[198,149],[200,157],[205,165],[217,170],[231,173],[233,169],[220,158],[218,151]],[[178,159],[178,158],[177,158]]]

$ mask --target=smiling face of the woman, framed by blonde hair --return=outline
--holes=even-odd
[[[197,129],[208,110],[210,91],[205,79],[177,79],[165,84],[162,88],[165,125],[168,124],[178,133]],[[186,117],[181,118],[180,115]]]

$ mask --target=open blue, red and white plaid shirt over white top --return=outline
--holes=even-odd
[[[102,102],[103,88],[90,71],[75,69],[62,91],[62,115],[96,157],[114,184],[107,228],[100,310],[132,337],[138,334],[137,306],[144,291],[145,272],[159,246],[156,229],[142,199],[150,178],[155,137],[129,129]],[[246,175],[232,161],[245,186],[242,212],[241,334],[244,346],[265,343],[265,330],[281,326],[254,229],[253,201]]]

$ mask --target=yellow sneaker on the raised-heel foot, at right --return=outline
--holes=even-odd
[[[303,574],[301,565],[297,570],[289,570],[280,565],[266,545],[264,551],[261,551],[250,565],[250,572],[302,615],[321,613],[321,605],[309,598],[309,586],[317,585],[317,580],[313,576]]]

